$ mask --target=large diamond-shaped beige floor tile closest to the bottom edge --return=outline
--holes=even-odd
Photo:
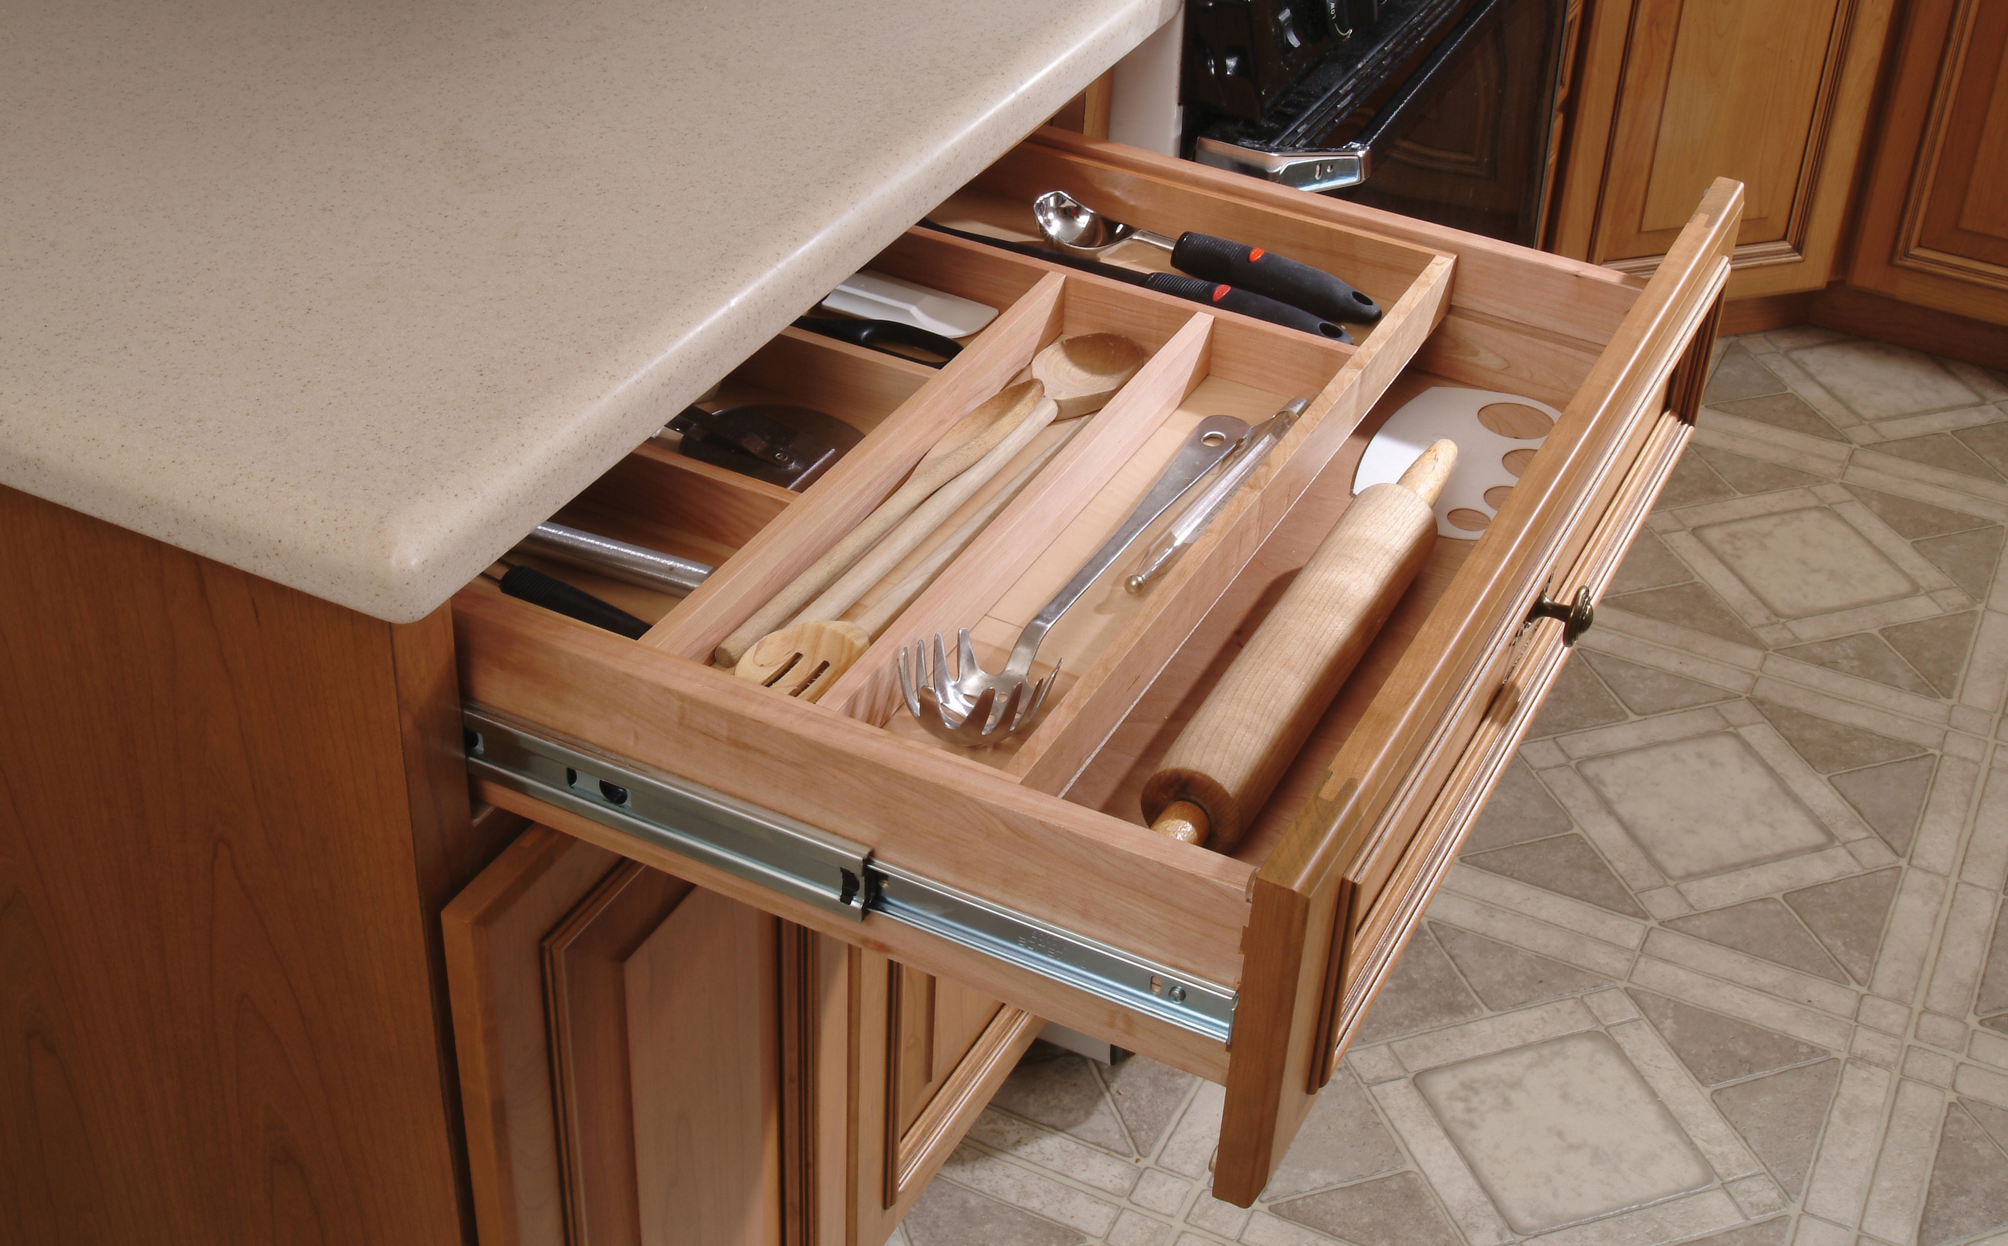
[[[1715,1180],[1600,1031],[1432,1069],[1416,1087],[1518,1232],[1606,1216]]]

